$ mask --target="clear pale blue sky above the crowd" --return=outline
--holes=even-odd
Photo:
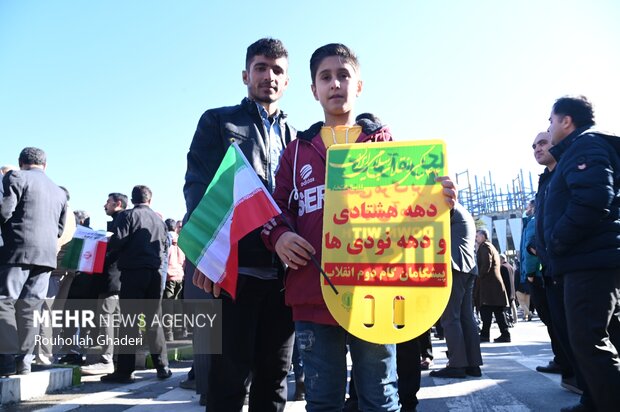
[[[271,36],[289,50],[281,107],[297,128],[322,120],[311,53],[345,43],[362,66],[358,113],[399,140],[442,138],[451,175],[491,171],[505,186],[540,171],[530,145],[557,97],[586,95],[620,133],[618,21],[614,0],[0,0],[0,164],[44,149],[96,229],[107,194],[136,184],[181,218],[198,118],[246,96],[245,50]]]

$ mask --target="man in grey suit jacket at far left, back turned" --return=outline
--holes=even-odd
[[[30,373],[34,312],[41,308],[50,272],[56,268],[67,195],[47,177],[46,165],[43,150],[27,147],[19,155],[20,170],[2,179],[0,375]]]

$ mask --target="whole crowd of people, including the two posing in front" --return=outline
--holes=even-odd
[[[305,399],[308,411],[415,410],[421,369],[432,364],[424,349],[430,331],[408,342],[376,344],[334,320],[320,290],[319,269],[312,264],[313,256],[321,260],[323,209],[308,207],[310,199],[304,199],[309,189],[325,190],[331,145],[386,142],[392,133],[376,116],[356,117],[363,82],[360,63],[347,46],[332,43],[315,50],[310,76],[324,119],[297,131],[279,107],[289,80],[288,52],[279,40],[256,41],[247,49],[242,72],[247,97],[236,106],[207,110],[191,142],[184,221],[214,178],[231,137],[283,211],[241,240],[234,299],[185,260],[177,242],[183,222],[164,221],[154,212],[153,194],[142,185],[132,190],[132,208],[126,195],[108,195],[104,209],[112,219],[111,236],[102,276],[59,269],[75,225],[87,226],[88,216],[72,213],[68,192],[45,175],[45,153],[25,148],[19,169],[3,170],[0,375],[26,374],[35,361],[56,361],[81,364],[83,373],[101,374],[102,381],[132,382],[135,352],[118,345],[64,347],[60,359],[53,358],[49,346],[35,351],[38,333],[113,336],[110,329],[39,331],[33,325],[36,311],[90,299],[97,313],[144,315],[144,330],[124,326],[116,333],[144,336],[157,377],[167,379],[166,342],[185,338],[187,331],[151,327],[150,320],[162,308],[164,313],[182,311],[181,299],[217,299],[222,351],[194,351],[192,370],[181,382],[201,395],[207,411],[241,411],[244,403],[250,410],[283,411],[292,364],[296,397]],[[516,302],[525,319],[531,318],[533,302],[555,355],[539,370],[560,372],[562,386],[581,394],[580,403],[568,410],[620,406],[620,144],[593,126],[585,98],[563,97],[553,105],[549,130],[532,146],[545,171],[528,205],[516,270],[495,248],[489,231],[476,229],[452,181],[437,179],[450,208],[453,281],[440,319],[448,364],[431,376],[481,376],[480,342],[491,341],[493,317],[500,330],[493,341],[510,342],[510,326],[518,320]],[[313,179],[305,180],[304,167]],[[134,300],[143,304],[136,307]],[[194,347],[206,344],[205,333],[193,331]],[[348,400],[347,352],[353,363]]]

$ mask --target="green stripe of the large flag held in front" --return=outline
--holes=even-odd
[[[243,160],[238,158],[235,150],[228,150],[200,203],[192,212],[191,219],[181,231],[179,247],[194,264],[202,258],[232,213],[234,193],[230,188],[240,167],[245,167]],[[208,234],[206,239],[205,233]]]

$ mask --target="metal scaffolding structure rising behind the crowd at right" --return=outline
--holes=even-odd
[[[536,190],[532,182],[532,173],[526,180],[523,170],[510,184],[501,187],[495,183],[491,172],[488,176],[470,177],[469,170],[456,174],[459,202],[474,216],[490,216],[498,213],[518,212],[519,216],[527,202],[534,198]]]

